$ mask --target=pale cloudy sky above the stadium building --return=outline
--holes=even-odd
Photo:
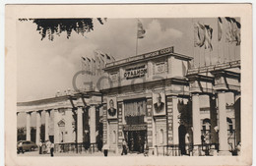
[[[198,55],[194,49],[193,23],[211,25],[214,29],[212,62],[217,61],[217,19],[140,19],[146,29],[138,39],[138,54],[174,46],[174,52],[187,56]],[[55,36],[53,41],[36,31],[32,22],[17,21],[18,46],[18,101],[53,97],[57,91],[72,87],[72,78],[81,70],[81,57],[93,57],[95,50],[111,54],[116,60],[135,56],[137,19],[107,19],[100,25],[94,19],[94,30],[86,37],[72,32]],[[210,63],[209,56],[202,58]],[[203,55],[204,56],[204,55]],[[196,62],[195,62],[196,63]]]

